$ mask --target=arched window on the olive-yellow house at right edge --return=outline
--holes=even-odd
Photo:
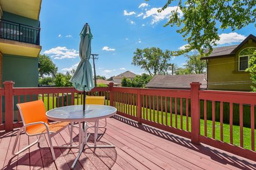
[[[239,71],[245,71],[249,67],[249,60],[252,56],[254,56],[255,47],[249,47],[243,49],[239,53],[239,61],[238,61],[238,69]]]

